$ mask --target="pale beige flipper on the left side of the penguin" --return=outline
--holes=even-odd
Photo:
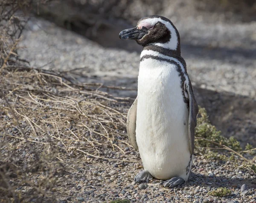
[[[127,133],[131,145],[134,149],[139,150],[137,141],[136,141],[136,117],[137,117],[137,98],[135,99],[134,103],[131,105],[130,110],[128,111],[127,115]]]

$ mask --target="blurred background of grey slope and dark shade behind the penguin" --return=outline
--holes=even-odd
[[[142,47],[120,40],[119,32],[144,16],[169,18],[180,33],[198,103],[212,124],[242,146],[256,146],[256,0],[27,0],[20,5],[12,22],[22,25],[17,55],[26,66],[61,71],[82,83],[122,86],[125,91],[105,90],[131,98],[137,95]]]

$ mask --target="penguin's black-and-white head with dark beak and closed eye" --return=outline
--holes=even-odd
[[[136,27],[121,31],[119,38],[134,39],[141,46],[154,44],[173,50],[180,46],[179,32],[171,20],[157,15],[141,18]]]

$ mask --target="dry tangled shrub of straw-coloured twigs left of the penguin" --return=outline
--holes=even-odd
[[[139,161],[120,158],[130,146],[128,99],[26,70],[7,67],[0,76],[0,198],[54,202],[68,194],[61,185],[87,158]]]

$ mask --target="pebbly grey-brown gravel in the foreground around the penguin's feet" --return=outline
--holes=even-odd
[[[131,148],[125,148],[125,154],[133,154],[129,156],[137,157],[137,153]],[[84,201],[91,203],[108,202],[119,197],[131,202],[154,203],[256,202],[256,175],[250,171],[235,169],[231,162],[210,161],[197,156],[194,159],[193,174],[189,182],[171,189],[160,186],[159,180],[141,184],[133,182],[134,176],[142,168],[140,163],[103,161],[99,164],[88,158],[83,160],[83,164],[79,175],[76,172],[75,177],[71,178],[70,184],[65,185],[64,189],[73,194],[72,197],[67,197],[65,200],[83,198]],[[77,180],[77,176],[79,180]],[[241,186],[244,184],[249,189],[241,192]],[[218,187],[230,188],[232,194],[228,197],[212,197],[207,194],[208,191]]]

